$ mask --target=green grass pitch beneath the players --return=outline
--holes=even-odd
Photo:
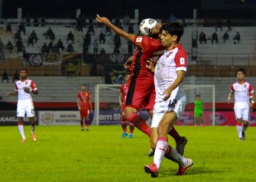
[[[127,127],[128,129],[129,127]],[[194,165],[184,176],[163,159],[159,178],[144,173],[151,164],[146,135],[121,138],[121,126],[39,126],[38,141],[20,143],[17,127],[0,127],[0,181],[256,181],[256,127],[239,141],[236,127],[176,127]],[[170,144],[175,146],[172,138]]]

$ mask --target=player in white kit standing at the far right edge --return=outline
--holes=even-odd
[[[236,129],[240,140],[245,140],[245,130],[249,124],[249,112],[255,104],[255,94],[252,84],[245,81],[245,71],[243,68],[236,71],[238,82],[231,85],[227,103],[235,95],[234,111],[236,115]]]

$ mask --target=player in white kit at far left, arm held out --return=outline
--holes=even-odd
[[[38,94],[37,86],[34,81],[27,78],[26,69],[20,71],[20,80],[15,82],[15,92],[7,93],[9,95],[18,95],[17,103],[17,117],[18,117],[18,129],[22,137],[22,142],[26,142],[26,136],[23,129],[23,119],[26,116],[31,123],[31,136],[34,141],[37,141],[35,135],[35,122],[34,122],[34,104],[31,97],[31,93]]]

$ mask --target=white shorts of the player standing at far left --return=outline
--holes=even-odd
[[[34,105],[31,100],[18,100],[17,116],[18,117],[34,117]]]

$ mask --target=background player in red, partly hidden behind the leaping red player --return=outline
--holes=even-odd
[[[124,106],[125,101],[127,99],[127,92],[128,92],[128,85],[127,82],[129,78],[131,77],[131,73],[127,71],[125,73],[125,84],[122,84],[120,87],[120,94],[119,94],[119,103],[121,106],[121,127],[123,129],[123,135],[121,135],[122,138],[125,138],[127,136],[127,119],[124,117]],[[132,122],[129,122],[129,138],[133,138],[132,133],[135,125]]]

